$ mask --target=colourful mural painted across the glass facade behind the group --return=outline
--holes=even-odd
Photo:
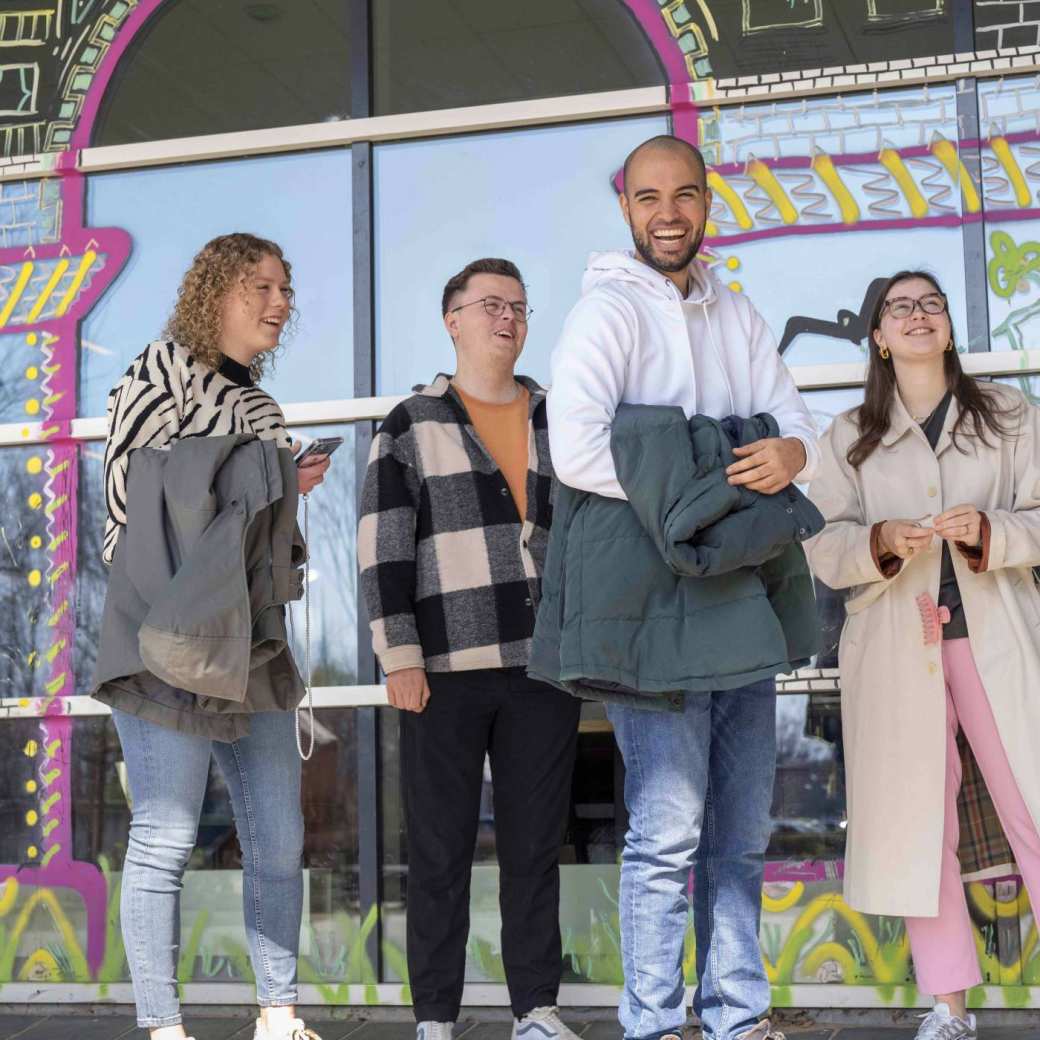
[[[14,424],[20,439],[0,449],[0,996],[10,983],[78,983],[85,998],[104,999],[127,979],[118,908],[128,807],[118,745],[101,722],[71,714],[98,615],[88,602],[97,582],[85,581],[97,565],[84,560],[96,556],[99,473],[97,446],[74,440],[72,422],[80,358],[96,345],[82,321],[135,246],[120,228],[86,225],[77,155],[121,56],[161,2],[36,0],[0,11],[0,423]],[[893,82],[880,78],[888,69],[849,89],[859,85],[855,77],[875,75],[858,71],[869,62],[953,58],[955,0],[857,0],[842,3],[840,18],[822,0],[618,2],[655,49],[674,132],[711,164],[706,257],[753,296],[791,364],[862,360],[877,279],[915,264],[947,286],[962,346],[1040,345],[1036,69],[1006,77],[980,69],[981,78],[959,83],[880,89]],[[1020,4],[977,0],[979,50],[1036,46],[1037,27],[1026,40],[1031,24],[1014,20],[1012,7]],[[904,31],[909,25],[915,32]],[[827,78],[835,89],[712,104],[722,77],[747,74],[768,87],[787,70]],[[48,176],[20,178],[29,160]],[[589,176],[616,182],[616,168]],[[965,257],[980,243],[971,266]],[[811,400],[826,424],[854,397]],[[336,551],[332,566],[353,573],[349,547]],[[779,858],[762,928],[775,999],[795,1003],[796,985],[843,984],[912,1003],[902,924],[857,914],[840,898],[840,728],[834,677],[818,664],[792,686],[781,720],[787,779],[778,786]],[[352,681],[345,669],[326,681]],[[302,981],[329,1003],[387,999],[365,956],[375,917],[350,909],[355,810],[346,792],[356,761],[344,749],[353,722],[345,709],[321,712],[319,722],[317,761],[305,777],[308,820],[318,825],[308,838]],[[319,787],[318,771],[343,785]],[[233,840],[227,813],[214,808],[213,818],[186,886],[180,979],[248,983],[240,891],[227,868]],[[617,986],[616,847],[610,836],[600,846],[606,861],[586,850],[588,862],[565,868],[566,981]],[[494,867],[477,867],[472,981],[503,978],[496,892]],[[969,895],[986,981],[999,987],[996,997],[980,990],[974,1003],[1040,1003],[1040,937],[1019,882],[974,884]],[[404,910],[399,901],[382,908],[384,974],[399,1000],[409,998]],[[690,942],[692,979],[692,932]]]

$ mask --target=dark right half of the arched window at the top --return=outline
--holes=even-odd
[[[372,5],[372,36],[376,115],[665,82],[618,0],[393,0]]]

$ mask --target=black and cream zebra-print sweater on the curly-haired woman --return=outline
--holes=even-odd
[[[275,399],[254,386],[244,365],[226,358],[214,371],[179,343],[150,343],[108,394],[105,502],[108,517],[102,555],[112,562],[126,526],[126,483],[136,448],[168,448],[184,437],[256,434],[290,447],[285,416]]]

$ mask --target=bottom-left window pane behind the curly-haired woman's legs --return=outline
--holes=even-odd
[[[317,746],[304,765],[300,974],[319,987],[371,978],[358,941],[355,718],[346,708],[318,711]],[[71,847],[58,853],[68,865],[47,887],[27,875],[0,883],[8,958],[0,982],[128,982],[119,907],[130,807],[119,737],[106,717],[56,725],[67,745],[62,759],[71,763],[71,774],[57,783],[50,776],[40,782],[36,752],[29,754],[44,739],[40,721],[0,726],[0,862],[31,864],[27,850],[35,846],[38,855],[52,843],[49,824],[72,817]],[[47,912],[34,913],[36,906]],[[184,879],[180,982],[252,981],[241,906],[241,853],[227,788],[211,765]]]

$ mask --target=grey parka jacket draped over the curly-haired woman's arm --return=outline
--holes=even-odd
[[[94,696],[235,739],[303,699],[285,604],[303,594],[296,467],[252,435],[138,448],[105,597]]]

